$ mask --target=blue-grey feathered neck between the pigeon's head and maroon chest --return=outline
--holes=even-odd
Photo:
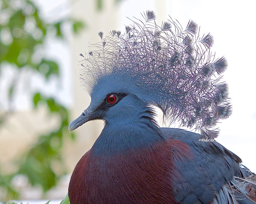
[[[97,156],[122,154],[127,150],[151,148],[166,140],[161,129],[150,118],[108,121],[93,144],[91,153]]]

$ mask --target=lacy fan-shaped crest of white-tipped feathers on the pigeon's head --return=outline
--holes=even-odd
[[[183,30],[172,18],[157,25],[153,11],[142,17],[134,18],[124,33],[98,33],[101,41],[81,54],[85,87],[90,93],[102,77],[127,77],[127,89],[137,87],[138,97],[158,106],[170,124],[195,127],[200,140],[213,141],[219,134],[218,120],[231,114],[228,85],[220,80],[226,59],[214,59],[212,36],[199,36],[194,21]]]

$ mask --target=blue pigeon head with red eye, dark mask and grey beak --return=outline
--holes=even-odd
[[[125,76],[108,75],[100,78],[91,91],[91,103],[69,125],[72,131],[90,120],[129,121],[149,103],[140,98],[138,87]]]

